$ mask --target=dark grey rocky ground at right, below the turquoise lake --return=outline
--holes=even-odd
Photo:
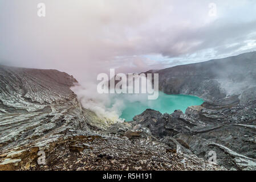
[[[147,110],[137,115],[131,124],[148,127],[153,136],[172,150],[179,147],[185,154],[204,159],[209,159],[209,152],[214,151],[220,166],[256,170],[255,108],[256,100],[240,105],[238,97],[233,96],[189,107],[185,114],[176,110],[173,114],[161,115]],[[144,119],[145,113],[147,119]],[[156,113],[160,117],[152,125]]]

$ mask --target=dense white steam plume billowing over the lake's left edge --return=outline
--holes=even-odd
[[[151,85],[151,82],[150,86]],[[141,85],[141,82],[140,82]],[[75,85],[71,88],[78,96],[80,104],[85,109],[94,111],[97,117],[105,119],[109,122],[124,122],[120,118],[125,103],[127,102],[141,102],[143,104],[148,101],[148,94],[99,94],[97,92],[97,84],[93,82],[86,82],[81,85]],[[136,105],[135,105],[136,106]]]

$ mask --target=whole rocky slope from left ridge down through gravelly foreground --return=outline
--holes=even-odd
[[[149,129],[106,125],[81,107],[66,73],[1,66],[0,82],[0,170],[225,169],[173,150]]]

